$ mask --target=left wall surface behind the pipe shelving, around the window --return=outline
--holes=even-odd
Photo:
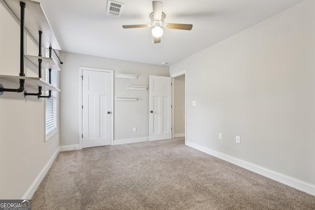
[[[3,1],[0,31],[0,75],[19,76],[20,23]],[[28,35],[26,46],[27,53],[38,53],[37,44]],[[27,76],[38,76],[28,68],[25,72]],[[0,84],[8,89],[19,87],[3,79]],[[0,199],[21,199],[59,149],[58,133],[45,142],[44,101],[35,96],[24,98],[23,92],[0,95]]]

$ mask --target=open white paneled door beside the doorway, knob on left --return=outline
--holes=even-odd
[[[149,76],[150,141],[172,138],[170,77]]]

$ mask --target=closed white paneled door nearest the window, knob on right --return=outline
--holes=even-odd
[[[111,73],[82,71],[83,148],[111,145]]]

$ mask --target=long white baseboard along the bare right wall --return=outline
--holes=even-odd
[[[211,150],[211,149],[205,148],[203,146],[200,146],[200,145],[188,142],[188,141],[186,141],[186,145],[191,147],[191,148],[194,148],[196,150],[199,150],[199,151],[205,152],[207,154],[210,154],[212,156],[218,157],[218,158],[220,158],[222,160],[225,160],[227,162],[233,163],[234,165],[240,166],[242,168],[245,168],[247,170],[250,170],[252,172],[260,174],[260,175],[262,175],[264,177],[270,178],[272,180],[279,181],[279,182],[281,182],[283,184],[286,184],[286,185],[288,185],[290,187],[296,188],[298,190],[301,190],[303,192],[306,192],[306,193],[309,193],[309,194],[315,196],[315,185],[313,185],[311,183],[308,183],[308,182],[305,182],[305,181],[301,181],[301,180],[297,180],[295,178],[286,176],[284,174],[281,174],[281,173],[272,171],[270,169],[267,169],[267,168],[255,165],[253,163],[244,161],[242,159],[239,159],[239,158],[236,158],[236,157],[233,157],[233,156],[221,153],[219,151],[215,151],[215,150]]]

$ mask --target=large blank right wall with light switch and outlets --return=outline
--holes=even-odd
[[[170,66],[187,70],[186,141],[315,184],[314,11],[305,0]]]

